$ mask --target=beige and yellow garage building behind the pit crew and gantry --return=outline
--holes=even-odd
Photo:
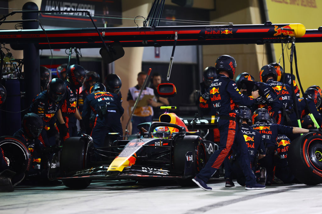
[[[2,8],[21,9],[28,2],[25,0],[0,0]],[[147,17],[152,6],[152,0],[35,0],[39,9],[48,9],[48,5],[59,3],[78,3],[95,5],[90,8],[93,10],[94,19],[98,27],[135,27],[133,21],[135,16],[141,15]],[[203,0],[177,1],[186,3],[185,6],[178,6],[166,0],[162,18],[168,19],[161,21],[160,26],[167,25],[191,25],[189,23],[172,22],[174,19],[196,20],[196,21],[214,21],[214,22],[232,22],[233,24],[262,24],[265,21],[274,23],[301,23],[306,29],[317,29],[320,23],[320,13],[318,9],[322,6],[321,1],[317,0]],[[97,6],[103,4],[104,6]],[[46,8],[47,5],[47,8]],[[13,9],[1,9],[0,14],[4,15],[13,11]],[[92,11],[91,11],[92,13]],[[122,15],[126,19],[104,19],[98,14]],[[189,15],[187,15],[189,14]],[[133,18],[132,18],[133,17]],[[21,14],[15,14],[10,20],[21,19]],[[54,19],[53,17],[40,16],[45,29],[50,28],[80,28],[92,27],[91,23],[79,19],[69,21],[64,19]],[[86,18],[87,19],[87,18]],[[137,19],[139,26],[142,26],[142,20]],[[2,24],[1,30],[13,30],[14,24]],[[8,46],[8,45],[7,45]],[[6,46],[6,47],[7,47]],[[318,60],[320,59],[321,43],[298,43],[298,69],[303,88],[310,85],[320,85],[322,74],[319,72]],[[290,47],[290,46],[289,46]],[[10,48],[8,46],[8,48]],[[10,48],[11,49],[11,48]],[[102,80],[108,73],[116,73],[122,80],[123,107],[126,110],[122,117],[122,125],[128,121],[128,102],[126,101],[128,88],[137,84],[137,73],[147,71],[152,68],[152,73],[158,72],[165,78],[168,63],[171,56],[172,47],[126,47],[125,56],[114,63],[104,64],[99,55],[99,49],[81,49],[81,65],[89,71],[98,72]],[[52,50],[53,52],[53,71],[62,64],[67,63],[68,55],[65,50]],[[23,58],[23,51],[11,50],[14,58]],[[50,65],[50,50],[40,50],[41,65]],[[199,82],[202,81],[202,71],[207,66],[213,66],[217,56],[228,54],[237,61],[236,73],[251,73],[256,80],[259,80],[258,73],[260,68],[279,60],[281,55],[280,44],[265,45],[209,45],[209,46],[178,46],[175,50],[174,65],[171,73],[170,82],[176,85],[178,95],[172,99],[171,105],[179,106],[180,114],[189,114],[191,116],[196,112],[194,104],[189,103],[189,95],[199,89]],[[72,55],[73,62],[75,54]],[[286,72],[289,71],[289,50],[285,51]],[[26,71],[27,72],[27,71]],[[24,108],[22,108],[24,109]],[[8,122],[6,122],[8,123]],[[10,122],[9,122],[10,123]],[[17,123],[12,121],[11,123]],[[10,124],[9,124],[10,125]],[[12,133],[1,133],[1,135],[10,135]]]

